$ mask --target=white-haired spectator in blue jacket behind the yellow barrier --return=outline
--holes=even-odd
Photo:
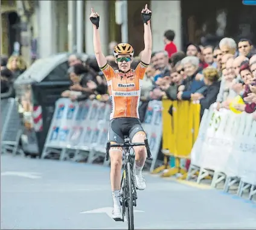
[[[183,81],[182,87],[179,86],[182,90],[177,94],[178,100],[190,100],[191,94],[205,85],[203,81],[196,80],[196,75],[199,71],[199,62],[198,57],[188,56],[182,59],[181,63],[184,66],[184,72],[187,78]]]

